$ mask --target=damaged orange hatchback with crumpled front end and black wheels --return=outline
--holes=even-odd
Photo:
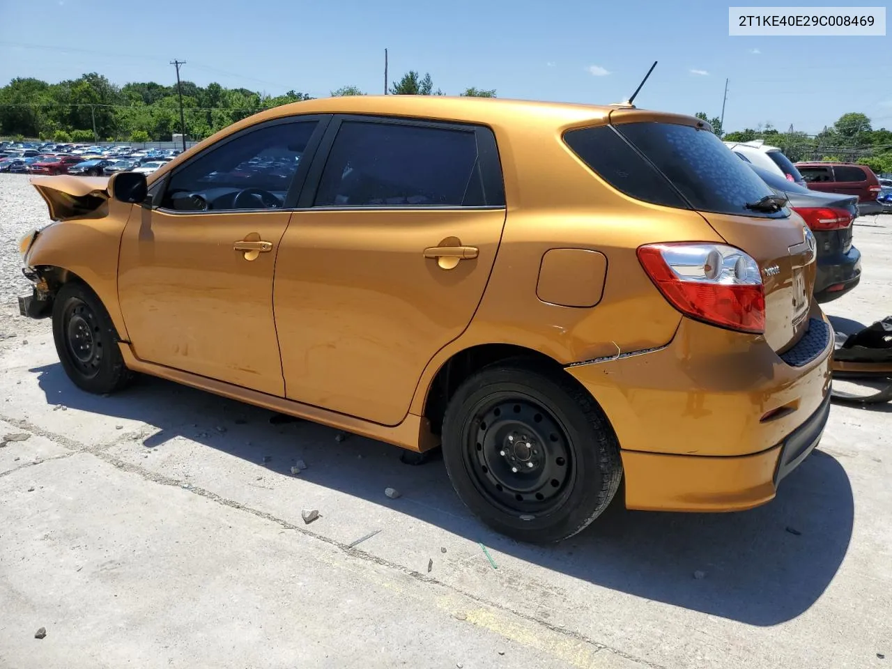
[[[403,448],[558,541],[607,508],[755,507],[814,449],[814,237],[702,121],[363,96],[144,175],[33,178],[21,313],[71,380],[161,376]]]

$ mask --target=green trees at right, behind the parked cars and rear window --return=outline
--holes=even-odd
[[[892,130],[874,129],[871,120],[857,111],[843,114],[817,135],[808,135],[792,126],[784,132],[771,123],[725,133],[718,118],[707,119],[703,112],[698,112],[697,118],[710,123],[715,134],[726,142],[762,139],[766,145],[780,148],[794,162],[857,162],[877,174],[892,172]]]

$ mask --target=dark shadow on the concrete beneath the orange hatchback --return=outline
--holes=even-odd
[[[382,442],[352,435],[337,442],[336,431],[326,426],[271,423],[276,414],[267,410],[161,379],[140,377],[127,391],[100,397],[78,390],[59,364],[30,371],[50,404],[153,425],[158,433],[145,440],[147,447],[185,436],[280,475],[304,458],[311,466],[301,478],[317,485],[399,509],[585,582],[747,624],[774,625],[804,613],[837,573],[852,535],[847,474],[821,450],[785,478],[777,498],[764,507],[676,514],[628,511],[615,503],[572,539],[536,546],[476,521],[438,458],[411,467],[401,462],[405,451]],[[262,447],[248,445],[246,437]],[[399,504],[384,498],[386,486],[403,491]]]

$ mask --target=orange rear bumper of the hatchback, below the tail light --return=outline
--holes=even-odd
[[[830,406],[832,331],[819,310],[812,318],[782,359],[763,337],[682,318],[664,349],[567,368],[614,427],[629,508],[730,511],[772,499]]]

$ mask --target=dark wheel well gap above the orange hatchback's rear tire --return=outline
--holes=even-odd
[[[431,431],[441,433],[443,417],[458,386],[479,369],[507,359],[525,359],[555,369],[561,366],[544,353],[509,343],[486,343],[458,351],[437,370],[425,400],[424,416],[430,421]]]

